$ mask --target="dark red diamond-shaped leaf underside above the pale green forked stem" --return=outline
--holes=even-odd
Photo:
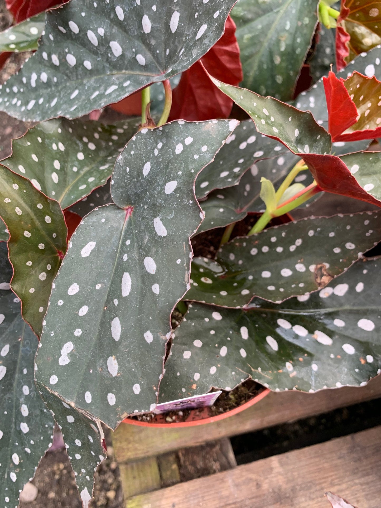
[[[381,202],[368,194],[342,160],[336,155],[299,153],[311,171],[316,183],[325,192],[355,198],[381,207]]]

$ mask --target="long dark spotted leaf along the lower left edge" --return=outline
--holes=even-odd
[[[0,242],[0,499],[4,508],[14,508],[52,442],[54,420],[35,386],[38,339],[9,289],[7,255],[7,244]]]

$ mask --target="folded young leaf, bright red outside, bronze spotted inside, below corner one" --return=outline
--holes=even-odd
[[[379,96],[381,82],[368,66],[364,76],[354,72],[347,79],[338,79],[333,72],[323,78],[328,108],[328,132],[332,141],[359,141],[381,136]]]

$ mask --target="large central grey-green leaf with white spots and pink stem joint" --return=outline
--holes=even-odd
[[[203,217],[194,181],[236,125],[179,120],[141,130],[116,162],[116,205],[92,211],[71,238],[37,379],[111,428],[156,403],[170,314],[189,288],[189,237]]]

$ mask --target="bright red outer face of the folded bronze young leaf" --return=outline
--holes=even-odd
[[[328,132],[335,141],[341,133],[356,123],[357,108],[342,78],[336,78],[330,71],[328,78],[323,78],[323,83],[328,109]]]

